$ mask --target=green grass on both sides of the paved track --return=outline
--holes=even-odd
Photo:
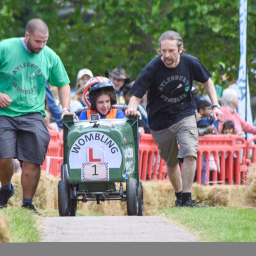
[[[40,209],[38,209],[40,211]],[[1,213],[10,220],[13,243],[40,242],[42,217],[59,216],[58,211],[42,210],[37,216],[28,209],[7,208]],[[171,208],[157,212],[172,224],[186,228],[200,241],[255,242],[256,209],[234,208]],[[77,211],[77,216],[100,216],[97,212]]]

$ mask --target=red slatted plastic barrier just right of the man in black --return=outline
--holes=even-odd
[[[246,159],[246,140],[237,135],[204,135],[199,136],[197,152],[196,181],[201,184],[202,179],[202,154],[205,154],[207,160],[207,182],[209,184],[209,159],[210,154],[214,156],[216,166],[218,166],[218,157],[220,157],[220,174],[218,171],[212,171],[212,183],[220,182],[233,184],[235,180],[237,185],[246,184],[246,170],[250,160]],[[234,175],[235,173],[235,175]],[[218,181],[218,176],[220,180]]]

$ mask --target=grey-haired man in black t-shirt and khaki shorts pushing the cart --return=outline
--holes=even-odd
[[[137,115],[138,104],[148,92],[148,124],[160,155],[166,161],[177,197],[175,206],[199,207],[198,202],[191,198],[198,149],[196,107],[191,91],[193,80],[204,84],[212,102],[214,119],[221,121],[223,114],[210,72],[197,58],[183,53],[179,33],[164,32],[159,38],[159,47],[161,56],[141,70],[132,86],[129,92],[132,97],[125,115]],[[183,159],[182,175],[179,159]]]

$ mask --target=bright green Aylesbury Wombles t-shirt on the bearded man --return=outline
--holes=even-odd
[[[0,92],[12,99],[0,115],[40,112],[45,116],[45,82],[64,86],[70,81],[60,57],[47,45],[39,54],[27,52],[20,38],[0,42]]]

